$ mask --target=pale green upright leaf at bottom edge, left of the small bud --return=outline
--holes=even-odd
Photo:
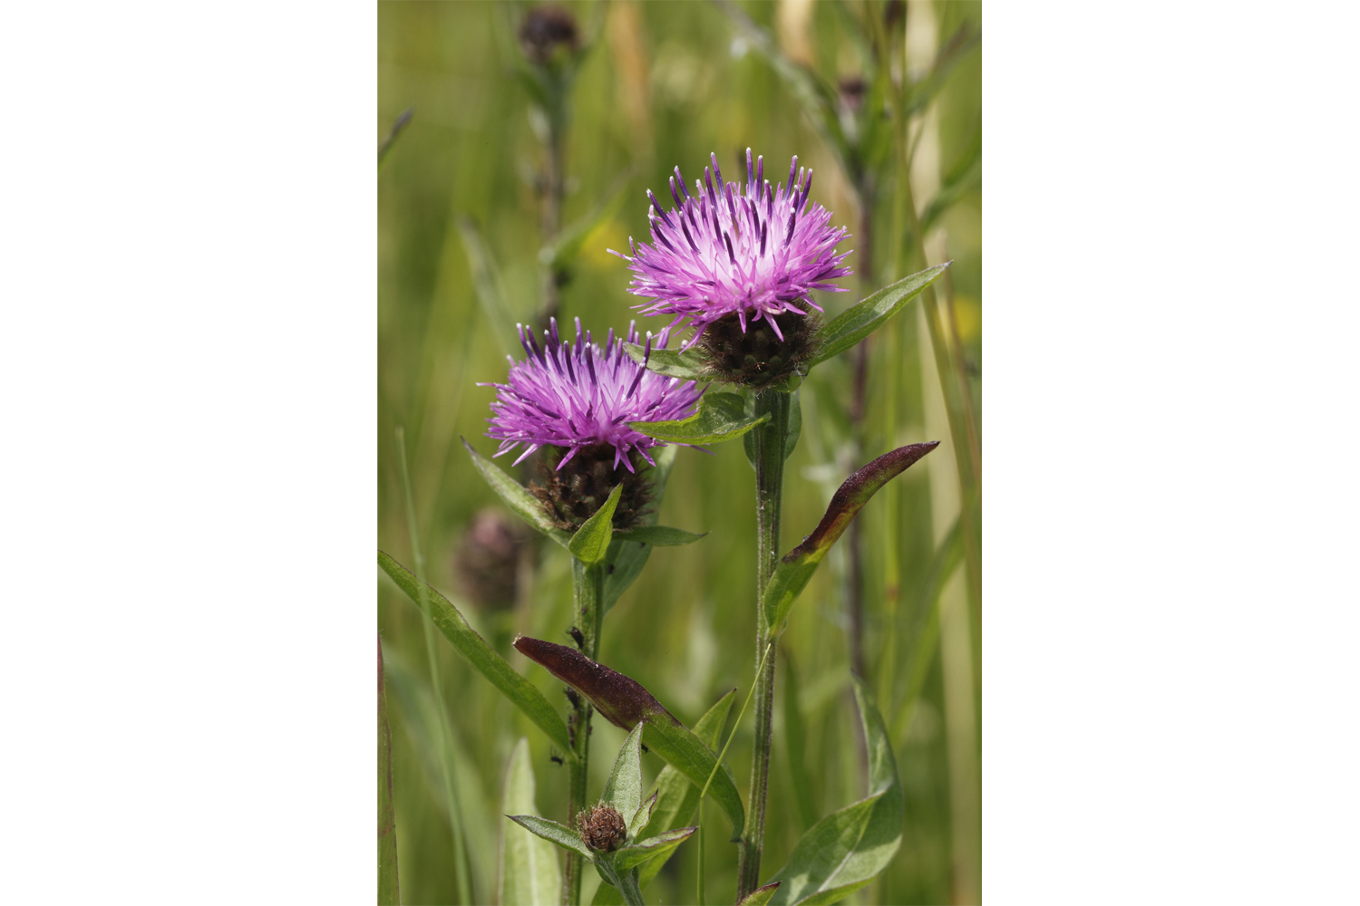
[[[537,818],[533,801],[533,767],[529,761],[529,740],[524,736],[510,753],[506,769],[505,796],[500,808],[505,815]],[[500,827],[500,906],[558,906],[562,898],[562,875],[558,854],[552,846],[522,827],[502,819]]]

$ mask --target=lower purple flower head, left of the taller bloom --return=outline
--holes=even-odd
[[[643,459],[649,447],[661,444],[628,427],[630,421],[668,421],[694,414],[703,393],[692,380],[666,378],[635,363],[623,350],[623,340],[613,330],[604,346],[590,340],[590,331],[581,331],[577,318],[577,341],[558,337],[558,322],[543,331],[540,348],[533,334],[520,325],[520,342],[529,355],[524,361],[510,359],[510,376],[495,387],[491,403],[491,431],[488,437],[500,441],[496,456],[525,444],[515,463],[524,460],[544,444],[563,447],[566,455],[558,470],[586,447],[609,444],[613,447],[613,467],[619,463],[632,471],[628,452],[636,450]],[[665,348],[669,331],[662,331],[657,344]],[[628,342],[638,342],[638,331],[628,325]],[[651,355],[651,334],[647,334],[647,356]],[[507,356],[509,359],[509,356]]]

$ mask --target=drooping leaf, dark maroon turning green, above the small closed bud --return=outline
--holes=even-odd
[[[741,805],[732,772],[724,765],[722,770],[714,773],[717,755],[662,708],[642,683],[590,660],[575,648],[528,636],[515,638],[514,647],[589,698],[600,714],[615,727],[631,731],[638,721],[645,723],[642,740],[647,748],[684,774],[691,784],[703,788],[709,776],[714,774],[709,795],[718,800],[732,820],[733,839],[740,837],[745,825],[745,808]]]

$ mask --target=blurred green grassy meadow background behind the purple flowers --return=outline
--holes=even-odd
[[[567,323],[579,316],[598,334],[627,327],[630,307],[639,300],[624,291],[624,262],[605,249],[626,250],[630,235],[646,236],[645,189],[666,198],[666,177],[676,164],[692,185],[709,152],[734,178],[748,145],[766,156],[774,174],[794,153],[812,166],[813,198],[854,234],[842,246],[857,250],[850,257],[857,276],[842,280],[851,292],[819,297],[830,315],[925,264],[953,261],[937,284],[934,330],[918,299],[874,336],[862,427],[847,414],[854,395],[849,355],[820,367],[804,386],[802,439],[786,471],[782,546],[792,547],[812,530],[854,467],[904,443],[944,441],[860,518],[865,670],[892,731],[907,816],[888,872],[846,902],[975,903],[981,3],[743,3],[778,53],[831,87],[828,109],[849,126],[851,141],[855,129],[883,110],[879,126],[887,139],[877,158],[866,155],[868,181],[850,173],[846,155],[828,145],[827,130],[817,126],[816,111],[802,106],[759,42],[744,37],[724,8],[699,0],[563,5],[575,14],[582,42],[593,38],[571,88],[562,145],[560,224],[588,219],[579,251],[562,262],[560,316]],[[378,4],[378,136],[415,109],[378,175],[378,543],[413,564],[394,440],[401,427],[430,581],[566,710],[560,683],[509,644],[515,632],[566,641],[571,588],[564,551],[515,538],[511,579],[502,576],[502,583],[513,581],[518,602],[505,607],[479,606],[475,598],[490,594],[486,581],[479,592],[460,581],[454,565],[457,551],[471,543],[475,516],[495,507],[458,443],[464,436],[484,454],[495,450],[483,436],[492,390],[476,382],[505,378],[505,356],[518,353],[505,322],[533,321],[544,304],[537,187],[545,164],[544,117],[517,75],[524,52],[515,33],[524,14],[524,7],[492,0]],[[884,107],[872,90],[860,90],[873,84],[874,72],[894,87],[881,99]],[[911,99],[921,103],[911,109]],[[601,215],[612,189],[622,193],[619,204]],[[861,205],[866,193],[869,223]],[[866,228],[872,274],[861,264]],[[469,254],[477,236],[487,262],[481,296],[469,264],[477,259]],[[643,330],[665,323],[639,319]],[[972,452],[963,450],[970,444]],[[740,443],[714,452],[680,451],[661,507],[664,524],[711,534],[653,554],[608,615],[600,648],[602,663],[642,682],[687,724],[733,687],[740,702],[755,670],[753,473]],[[532,477],[522,467],[518,475]],[[492,553],[496,538],[507,542],[494,528],[484,520],[481,541],[492,542]],[[473,554],[465,551],[464,562]],[[845,541],[828,565],[794,609],[781,642],[762,877],[785,863],[811,822],[864,795],[849,693]],[[438,638],[439,691],[450,728],[443,736],[422,618],[381,573],[378,628],[389,671],[403,901],[458,902],[456,823],[473,902],[494,903],[499,797],[511,746],[528,736],[539,810],[558,820],[566,819],[566,769],[549,759],[543,733]],[[790,721],[801,723],[801,740],[790,740]],[[623,736],[596,720],[592,796]],[[728,762],[745,795],[749,712]],[[647,782],[660,767],[654,755],[643,757]],[[706,811],[710,819],[713,811]],[[730,902],[736,848],[726,842],[726,826],[707,834],[704,846],[707,895],[714,903]],[[694,902],[695,860],[691,841],[647,888],[647,902]],[[588,872],[583,902],[596,883]]]

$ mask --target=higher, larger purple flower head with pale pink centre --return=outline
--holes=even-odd
[[[692,196],[676,167],[670,211],[647,192],[651,244],[630,236],[632,257],[613,253],[632,270],[628,292],[651,299],[638,306],[643,314],[675,315],[672,327],[694,326],[685,346],[728,315],[737,316],[743,333],[748,321],[764,318],[782,338],[775,315],[804,314],[808,306],[821,311],[808,296],[813,289],[845,292],[827,281],[851,273],[842,266],[850,253],[835,249],[849,234],[808,200],[812,170],[800,170],[797,158],[778,186],[764,179],[764,158],[752,166],[749,148],[745,185],[724,182],[718,156],[711,160]]]

